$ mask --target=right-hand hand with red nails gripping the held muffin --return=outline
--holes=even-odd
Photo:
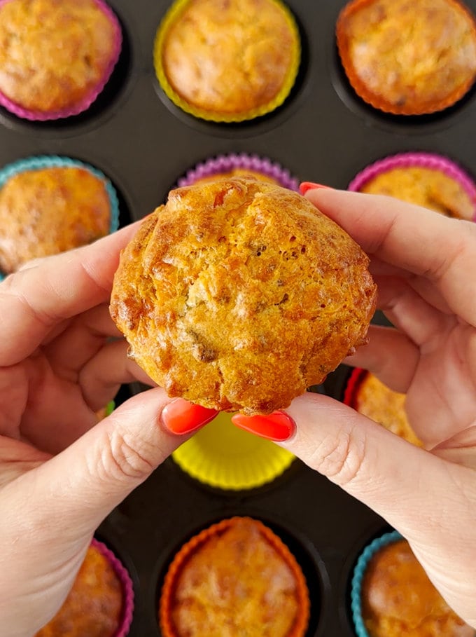
[[[286,409],[297,426],[279,444],[398,529],[476,628],[476,224],[382,196],[307,198],[369,254],[378,307],[394,326],[372,325],[368,345],[344,362],[406,393],[425,449],[311,393]],[[253,418],[233,420],[259,434],[266,422]]]

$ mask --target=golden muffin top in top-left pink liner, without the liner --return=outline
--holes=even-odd
[[[103,80],[115,39],[94,0],[9,0],[0,7],[0,90],[25,109],[73,107]]]

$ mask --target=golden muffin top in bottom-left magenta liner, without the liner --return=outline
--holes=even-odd
[[[123,612],[123,587],[109,560],[89,547],[73,588],[35,637],[113,637]]]

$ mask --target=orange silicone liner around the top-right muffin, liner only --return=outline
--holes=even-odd
[[[390,104],[386,102],[384,97],[379,97],[369,89],[367,89],[367,85],[363,81],[360,80],[358,75],[353,69],[353,64],[351,62],[349,56],[349,42],[346,39],[344,34],[343,24],[346,18],[349,18],[349,15],[358,12],[361,8],[370,5],[374,2],[374,0],[351,0],[344,8],[342,9],[339,17],[337,18],[336,25],[336,41],[337,41],[337,50],[339,51],[340,61],[342,63],[342,67],[344,68],[345,74],[351,87],[356,92],[358,97],[361,100],[370,104],[370,106],[374,107],[374,109],[379,109],[379,111],[383,111],[384,113],[391,113],[393,115],[403,115],[403,116],[412,116],[412,115],[426,115],[431,113],[437,113],[439,111],[444,111],[448,107],[453,106],[461,100],[461,98],[468,93],[473,83],[475,82],[475,78],[466,81],[461,84],[458,90],[454,90],[453,93],[447,95],[447,97],[443,97],[441,100],[432,104],[431,107],[428,105],[421,105],[418,107],[408,107],[405,104],[401,106],[398,104]],[[451,4],[456,8],[457,11],[461,13],[465,13],[468,15],[473,24],[473,31],[476,38],[476,22],[472,13],[466,8],[461,2],[458,0],[447,0],[448,4]]]

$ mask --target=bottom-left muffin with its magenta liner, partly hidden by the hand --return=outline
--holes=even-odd
[[[114,575],[116,575],[117,582],[120,585],[120,601],[122,608],[116,622],[111,617],[111,612],[116,614],[118,599],[110,598],[109,601],[102,601],[101,599],[92,597],[88,598],[88,591],[92,593],[94,586],[99,585],[97,582],[97,572],[94,568],[94,561],[86,562],[83,569],[80,570],[78,578],[73,584],[73,589],[68,598],[64,602],[64,605],[57,612],[57,615],[41,629],[35,637],[85,637],[83,633],[79,631],[84,629],[75,625],[75,617],[84,617],[91,615],[91,622],[97,627],[99,635],[99,617],[104,617],[104,626],[102,626],[102,632],[100,637],[126,637],[129,633],[130,625],[132,622],[132,615],[134,614],[134,589],[132,587],[132,580],[129,573],[123,566],[123,563],[116,557],[115,554],[106,547],[106,544],[99,542],[95,538],[91,542],[89,552],[98,552],[109,563],[109,567],[112,568]],[[90,554],[88,554],[90,556]],[[92,559],[92,556],[91,556]],[[96,560],[97,563],[97,560]],[[111,575],[108,575],[110,578]],[[107,579],[101,584],[105,585]],[[118,588],[118,584],[115,585],[115,590]],[[111,584],[109,584],[111,586]],[[94,591],[95,592],[95,591]],[[94,594],[94,593],[92,593]],[[111,591],[108,595],[111,596]],[[116,593],[114,593],[116,596]],[[106,615],[104,615],[106,614]],[[98,617],[99,616],[99,617]],[[92,619],[94,617],[95,619]],[[109,624],[109,628],[106,629],[106,622]],[[113,627],[113,624],[117,624],[117,628]],[[104,631],[107,630],[107,634]],[[88,634],[89,631],[88,631]],[[94,632],[94,635],[96,633]]]

